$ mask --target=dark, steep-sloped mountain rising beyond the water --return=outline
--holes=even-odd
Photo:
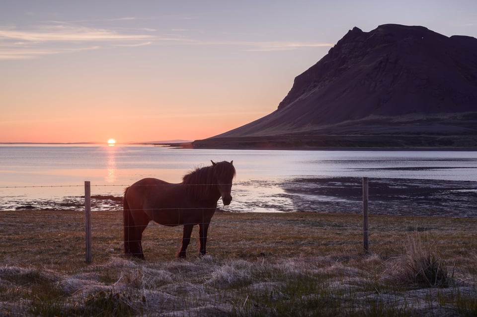
[[[354,27],[273,113],[193,146],[477,148],[477,39]]]

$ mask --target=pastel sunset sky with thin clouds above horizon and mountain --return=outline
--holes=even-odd
[[[477,1],[0,0],[0,142],[220,134],[386,23],[477,37]]]

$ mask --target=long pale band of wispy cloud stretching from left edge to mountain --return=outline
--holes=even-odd
[[[135,19],[134,17],[116,20]],[[174,29],[181,35],[160,36],[154,29],[92,28],[72,22],[50,21],[30,29],[0,26],[0,60],[34,59],[43,55],[64,54],[105,47],[142,47],[153,43],[191,46],[236,46],[248,52],[287,51],[302,48],[331,47],[330,43],[208,41],[183,35],[187,29]],[[145,33],[147,32],[147,33]]]

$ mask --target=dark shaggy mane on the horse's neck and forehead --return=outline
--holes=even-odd
[[[216,171],[218,179],[232,179],[236,174],[232,164],[223,164],[223,162],[212,166],[198,167],[182,178],[182,184],[188,185],[186,188],[188,194],[199,200],[209,197],[217,185],[217,181],[214,180],[214,171]]]

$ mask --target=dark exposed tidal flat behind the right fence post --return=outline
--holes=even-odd
[[[296,209],[361,212],[362,179],[294,179],[283,184]],[[477,217],[477,183],[442,180],[370,179],[374,214]]]

